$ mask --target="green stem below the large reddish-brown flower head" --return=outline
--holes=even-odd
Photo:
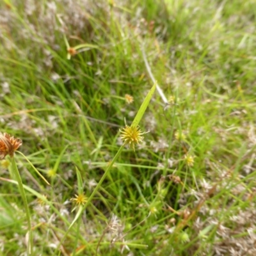
[[[22,184],[22,179],[20,177],[20,173],[19,170],[17,168],[17,164],[15,161],[14,157],[10,157],[10,161],[12,163],[12,172],[14,173],[16,180],[18,182],[18,186],[19,186],[19,190],[20,190],[20,195],[25,207],[25,211],[26,211],[26,217],[27,217],[27,221],[28,221],[28,255],[31,255],[31,249],[32,249],[32,232],[31,232],[31,221],[30,221],[30,214],[29,214],[29,208],[28,208],[28,200],[26,198],[26,193],[25,190],[23,188],[23,184]]]

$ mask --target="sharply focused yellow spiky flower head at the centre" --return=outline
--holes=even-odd
[[[125,125],[121,132],[121,139],[124,141],[125,145],[129,145],[130,148],[133,148],[135,151],[135,145],[143,141],[144,137],[142,136],[146,132],[142,132],[138,126],[135,125]]]

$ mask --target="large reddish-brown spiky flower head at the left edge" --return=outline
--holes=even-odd
[[[10,134],[0,132],[0,159],[3,160],[4,157],[9,155],[13,157],[14,152],[22,145],[22,140],[16,139]]]

